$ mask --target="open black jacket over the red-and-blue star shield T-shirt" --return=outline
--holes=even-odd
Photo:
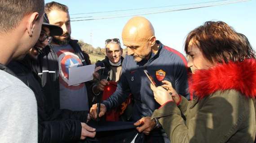
[[[85,59],[82,54],[82,50],[77,43],[77,40],[71,40],[70,45],[75,51],[75,54],[79,56],[84,65],[89,65],[88,57]],[[38,56],[37,66],[34,67],[35,72],[39,76],[39,81],[46,93],[46,100],[49,106],[54,109],[60,109],[60,93],[59,93],[59,68],[58,57],[54,52],[53,47],[47,46],[43,49],[44,53]],[[92,82],[86,82],[86,88],[88,92],[89,107],[92,103],[92,93],[90,93],[90,86]]]

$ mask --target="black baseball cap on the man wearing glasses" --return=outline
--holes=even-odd
[[[63,30],[60,26],[49,24],[49,19],[46,13],[44,13],[44,22],[42,26],[45,26],[50,29],[51,36],[60,36],[63,33]]]

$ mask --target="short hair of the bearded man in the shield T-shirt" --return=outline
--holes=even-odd
[[[57,3],[55,1],[45,4],[44,11],[46,14],[49,14],[52,10],[61,10],[68,13],[68,7],[66,5]]]

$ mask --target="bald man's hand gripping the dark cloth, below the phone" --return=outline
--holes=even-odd
[[[134,123],[134,126],[140,126],[136,128],[138,132],[143,132],[144,134],[149,135],[150,131],[154,129],[155,122],[151,120],[151,117],[143,117]]]

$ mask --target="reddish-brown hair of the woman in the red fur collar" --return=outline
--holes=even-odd
[[[219,63],[228,63],[230,60],[235,62],[255,59],[255,51],[248,39],[223,21],[207,21],[192,30],[185,41],[187,54],[191,40],[212,63],[214,60]]]

